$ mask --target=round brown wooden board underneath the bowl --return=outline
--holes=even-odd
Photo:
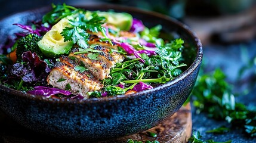
[[[147,135],[147,131],[156,133],[156,138]],[[113,141],[104,141],[98,143],[127,142],[128,139],[133,141],[159,141],[161,143],[182,143],[187,142],[192,133],[192,115],[190,104],[183,106],[169,119],[160,123],[158,126],[144,132],[135,133],[134,135],[125,136],[124,138]]]

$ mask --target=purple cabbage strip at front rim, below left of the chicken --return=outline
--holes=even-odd
[[[66,96],[69,96],[72,94],[69,91],[65,91],[65,90],[57,89],[57,88],[48,88],[45,86],[35,86],[35,89],[33,91],[28,91],[27,93],[33,94],[33,95],[42,95],[47,98],[51,97],[51,95],[56,95],[56,94],[62,94],[62,95],[66,95]]]

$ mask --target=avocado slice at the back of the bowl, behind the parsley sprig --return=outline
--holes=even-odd
[[[105,17],[106,22],[113,24],[118,27],[120,30],[129,30],[132,25],[132,15],[128,13],[115,13],[115,12],[104,12],[97,11],[97,14]]]

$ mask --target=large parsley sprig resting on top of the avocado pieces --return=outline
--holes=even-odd
[[[112,44],[110,39],[106,35],[106,29],[102,26],[105,23],[105,17],[99,16],[96,12],[91,14],[91,18],[85,17],[86,11],[78,13],[78,16],[70,19],[69,24],[71,27],[65,27],[60,34],[64,37],[64,42],[73,41],[77,43],[81,48],[88,48],[88,39],[90,38],[90,32],[101,32],[104,39],[107,39]]]

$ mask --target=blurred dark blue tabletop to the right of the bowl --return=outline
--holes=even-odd
[[[246,71],[242,76],[243,83],[238,82],[239,70],[248,64],[248,60],[256,57],[256,40],[231,44],[231,45],[211,45],[204,47],[205,70],[211,71],[215,67],[223,69],[227,75],[227,80],[234,86],[236,101],[242,102],[248,107],[256,106],[256,66],[251,70]],[[253,78],[254,77],[254,78]],[[241,94],[245,89],[248,94]],[[256,138],[251,138],[243,133],[242,129],[232,128],[230,132],[218,135],[214,133],[205,133],[207,130],[212,130],[220,126],[229,127],[230,125],[225,121],[217,121],[208,118],[205,113],[196,114],[195,108],[192,106],[193,130],[201,132],[202,139],[214,139],[214,141],[228,141],[232,142],[256,142]]]

